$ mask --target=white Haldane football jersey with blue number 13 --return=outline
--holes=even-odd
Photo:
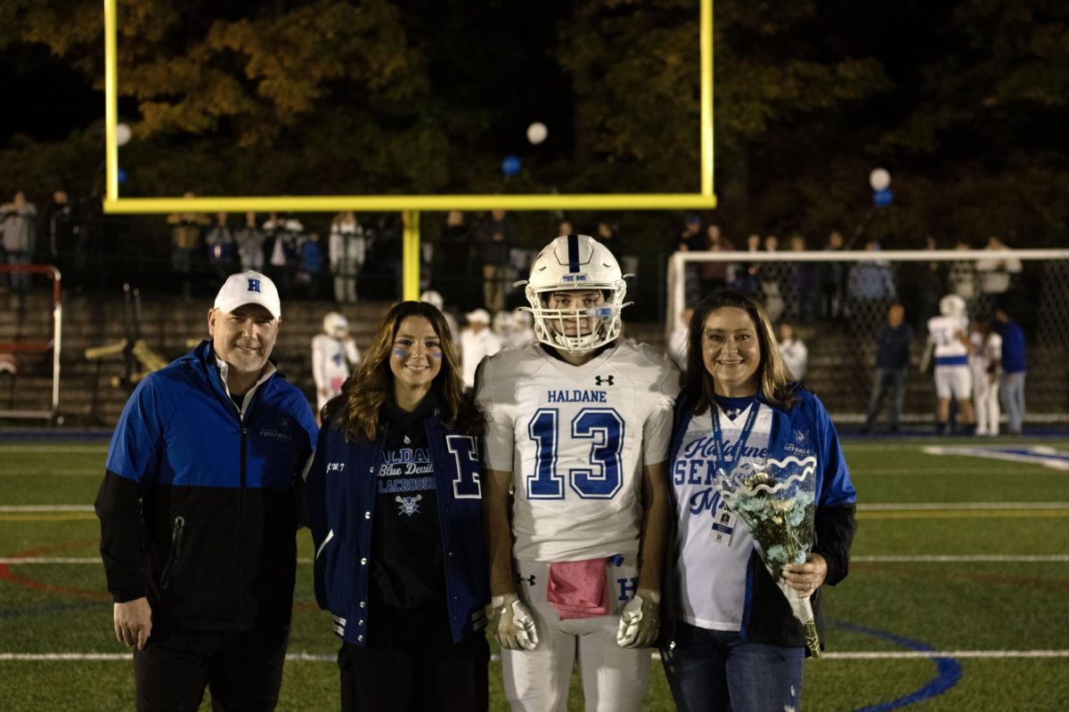
[[[625,339],[582,366],[540,344],[483,362],[486,466],[513,473],[515,558],[638,553],[642,469],[668,459],[678,392],[667,354]]]

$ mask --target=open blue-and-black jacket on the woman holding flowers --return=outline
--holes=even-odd
[[[850,568],[850,544],[856,529],[854,520],[856,494],[850,481],[850,473],[847,471],[847,463],[839,447],[835,426],[832,425],[823,404],[817,396],[800,385],[795,385],[793,395],[795,401],[787,410],[769,404],[760,392],[757,397],[773,411],[772,431],[769,433],[769,454],[771,457],[781,459],[787,455],[817,456],[816,511],[814,516],[816,542],[812,551],[823,556],[827,561],[827,576],[824,584],[834,586],[846,577]],[[694,400],[692,398],[681,398],[676,406],[669,462],[676,461],[693,411]],[[678,547],[679,536],[676,531],[675,512],[678,511],[679,503],[676,501],[676,488],[669,489],[673,515],[670,518],[672,523],[668,541],[670,545]],[[678,559],[678,551],[670,552],[666,557],[663,584],[665,613],[662,617],[664,624],[661,631],[661,640],[664,646],[671,645],[676,621],[682,620]],[[821,640],[823,640],[820,592],[818,588],[810,600],[817,619],[817,629],[821,633]],[[806,645],[802,623],[794,618],[787,603],[787,598],[776,586],[772,574],[764,567],[756,550],[750,554],[746,567],[746,595],[741,635],[752,643],[762,645],[783,647],[805,647]]]

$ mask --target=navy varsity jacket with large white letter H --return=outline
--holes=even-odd
[[[328,426],[320,431],[306,475],[308,525],[315,544],[315,600],[334,614],[335,632],[366,645],[377,470],[383,462],[385,421],[372,441],[346,442]],[[446,611],[459,643],[486,624],[490,603],[482,532],[478,438],[447,430],[432,415],[423,422],[434,466],[445,563]]]

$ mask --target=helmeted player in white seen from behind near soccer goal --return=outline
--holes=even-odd
[[[950,398],[958,404],[958,424],[969,429],[976,422],[973,414],[973,379],[969,373],[969,317],[965,300],[947,295],[939,300],[940,316],[928,319],[928,346],[920,359],[920,371],[928,369],[935,354],[935,429],[946,432],[950,417]]]

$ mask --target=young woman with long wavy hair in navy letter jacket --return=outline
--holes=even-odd
[[[343,710],[487,707],[482,430],[441,312],[394,305],[324,408],[307,474]]]

